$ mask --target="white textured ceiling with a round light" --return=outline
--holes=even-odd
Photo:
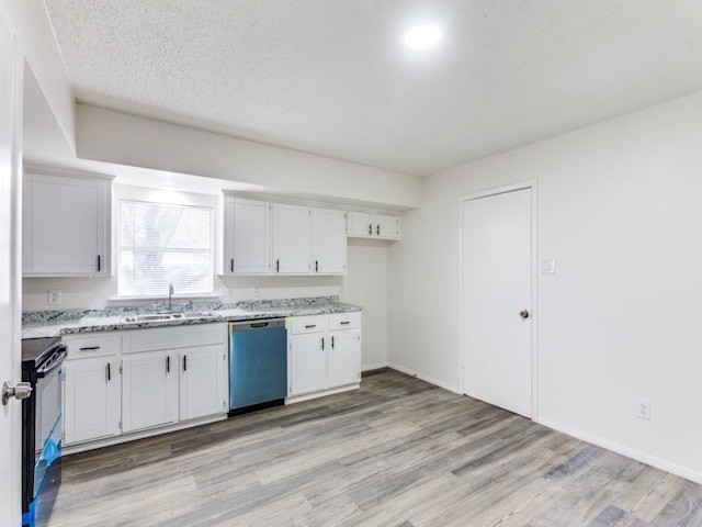
[[[414,175],[702,89],[698,0],[45,2],[81,102]]]

